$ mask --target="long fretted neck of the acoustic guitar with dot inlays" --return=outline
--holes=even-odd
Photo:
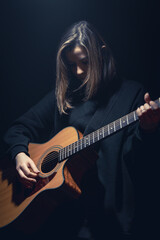
[[[155,101],[160,107],[160,98]],[[85,148],[99,142],[100,140],[116,133],[117,131],[129,126],[139,119],[136,111],[133,111],[107,125],[99,128],[98,130],[84,136],[78,141],[62,148],[59,151],[59,162],[71,157],[75,153],[82,151]]]

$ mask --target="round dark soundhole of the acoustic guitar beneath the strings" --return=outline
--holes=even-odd
[[[44,159],[41,165],[41,170],[44,173],[50,172],[58,163],[58,152],[50,152]]]

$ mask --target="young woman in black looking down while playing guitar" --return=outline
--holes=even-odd
[[[55,92],[17,119],[5,134],[20,181],[32,188],[39,169],[28,154],[29,142],[48,141],[67,126],[87,135],[135,110],[139,121],[95,145],[97,175],[86,181],[92,190],[75,204],[79,211],[74,223],[87,219],[92,239],[140,234],[139,223],[145,219],[143,211],[139,214],[145,195],[140,189],[147,176],[142,166],[148,164],[150,146],[155,150],[158,146],[160,110],[143,86],[118,76],[109,47],[88,22],[74,24],[62,38]],[[155,162],[153,151],[152,159]],[[75,205],[70,206],[70,221],[75,217]],[[54,237],[72,239],[75,232],[61,231]]]

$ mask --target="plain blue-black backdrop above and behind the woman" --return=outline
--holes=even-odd
[[[65,29],[91,22],[112,49],[125,78],[160,96],[158,0],[1,0],[1,137],[11,122],[55,83]],[[126,99],[127,100],[127,99]]]

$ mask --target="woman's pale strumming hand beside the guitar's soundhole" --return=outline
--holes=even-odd
[[[36,183],[39,170],[33,160],[24,152],[20,152],[15,157],[16,170],[20,181],[27,188],[32,188]]]

